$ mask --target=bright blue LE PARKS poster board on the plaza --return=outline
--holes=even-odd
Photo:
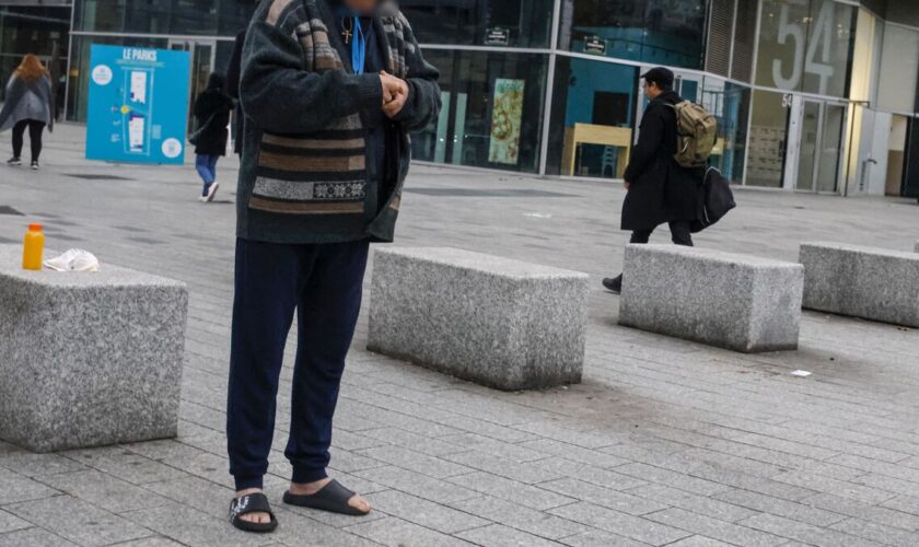
[[[86,159],[182,164],[189,75],[187,51],[94,44]]]

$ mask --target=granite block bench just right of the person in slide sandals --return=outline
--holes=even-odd
[[[585,274],[443,247],[373,261],[369,350],[498,389],[581,381]]]

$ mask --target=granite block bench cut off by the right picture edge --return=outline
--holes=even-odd
[[[919,255],[839,243],[801,245],[804,307],[919,327]]]

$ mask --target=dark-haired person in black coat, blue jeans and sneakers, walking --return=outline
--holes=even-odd
[[[226,139],[233,98],[226,94],[226,79],[220,72],[212,72],[208,86],[195,100],[195,119],[198,130],[191,137],[195,144],[195,167],[205,183],[201,201],[213,201],[220,183],[217,182],[217,162],[226,155]]]

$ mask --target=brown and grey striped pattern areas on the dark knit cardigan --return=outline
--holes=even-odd
[[[344,70],[315,0],[274,0],[266,22],[280,27],[291,16],[304,21],[294,30],[303,48],[303,69],[317,73]],[[388,65],[399,78],[407,75],[406,24],[402,14],[383,20]],[[283,214],[362,214],[367,184],[364,127],[360,115],[352,114],[316,133],[265,133],[249,208]]]

